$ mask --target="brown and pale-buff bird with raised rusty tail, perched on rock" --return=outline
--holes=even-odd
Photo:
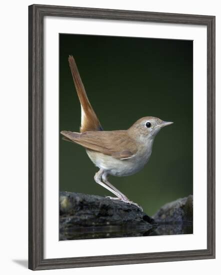
[[[152,145],[159,130],[172,124],[158,117],[145,116],[135,121],[128,129],[103,130],[82,83],[76,62],[72,55],[68,57],[75,89],[81,107],[81,125],[79,132],[61,130],[64,140],[83,146],[90,160],[99,168],[94,180],[120,200],[142,207],[129,200],[108,181],[108,175],[129,176],[140,171],[148,162]]]

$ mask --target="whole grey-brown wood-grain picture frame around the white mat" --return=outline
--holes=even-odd
[[[31,5],[29,34],[28,267],[32,270],[215,257],[215,16]],[[74,258],[43,258],[43,17],[79,17],[207,27],[207,249]]]

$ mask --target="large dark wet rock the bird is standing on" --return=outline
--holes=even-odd
[[[145,235],[153,223],[135,205],[97,195],[60,192],[60,240]]]

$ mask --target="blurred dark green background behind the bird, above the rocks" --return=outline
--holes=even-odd
[[[140,172],[110,182],[149,215],[192,193],[192,41],[60,34],[59,129],[79,131],[69,54],[104,130],[127,129],[147,115],[174,122],[158,133]],[[84,148],[60,135],[60,190],[111,195],[94,182],[96,171]]]

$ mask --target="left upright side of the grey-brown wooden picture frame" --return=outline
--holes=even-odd
[[[28,266],[43,260],[43,15],[29,6]]]

